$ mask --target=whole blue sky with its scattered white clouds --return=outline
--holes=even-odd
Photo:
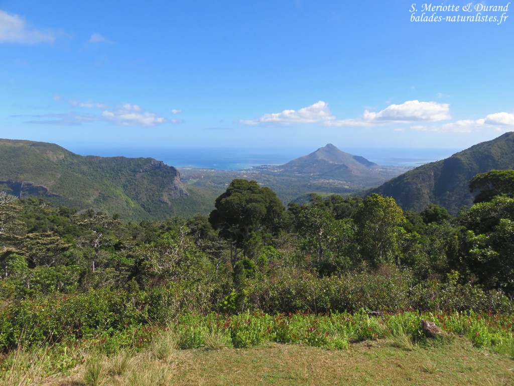
[[[464,149],[514,130],[514,6],[467,4],[0,0],[0,137]]]

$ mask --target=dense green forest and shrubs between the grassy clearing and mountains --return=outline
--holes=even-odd
[[[232,181],[210,216],[157,222],[2,193],[0,346],[27,324],[41,342],[192,310],[511,311],[514,198],[495,179],[476,176],[494,194],[455,217],[377,194],[285,208],[247,180]]]

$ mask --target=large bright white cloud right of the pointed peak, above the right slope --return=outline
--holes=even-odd
[[[362,118],[393,122],[437,121],[450,119],[449,110],[448,103],[409,100],[402,104],[391,104],[378,113],[366,110]]]

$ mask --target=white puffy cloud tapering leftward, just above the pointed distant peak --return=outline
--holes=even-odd
[[[335,119],[328,104],[320,100],[300,110],[284,110],[281,113],[264,114],[259,119],[240,120],[243,125],[315,124]]]

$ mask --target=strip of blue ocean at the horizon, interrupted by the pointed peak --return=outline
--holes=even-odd
[[[249,169],[259,165],[282,165],[307,155],[313,148],[104,148],[69,146],[81,155],[153,157],[174,167],[209,168],[218,170]],[[363,156],[379,165],[416,167],[445,159],[457,149],[433,148],[345,148],[347,153]]]

